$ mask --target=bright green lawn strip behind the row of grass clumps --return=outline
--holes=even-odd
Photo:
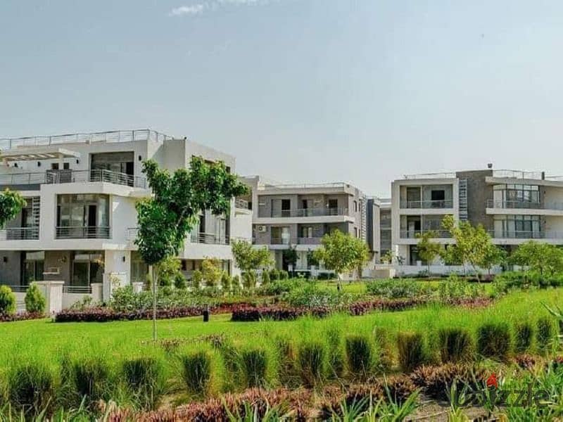
[[[475,331],[483,321],[535,321],[548,314],[542,303],[562,304],[563,289],[511,293],[484,309],[461,309],[441,306],[424,307],[405,312],[376,312],[365,316],[335,315],[327,319],[303,318],[297,321],[261,321],[234,323],[229,315],[211,316],[209,323],[201,318],[158,321],[159,338],[190,339],[188,347],[201,347],[202,335],[224,334],[235,343],[268,345],[279,335],[296,342],[324,338],[330,327],[347,333],[371,333],[383,326],[390,333],[398,331],[434,332],[442,326],[464,326]],[[123,357],[154,352],[151,345],[151,321],[111,323],[55,324],[50,320],[21,321],[0,324],[1,362],[22,362],[39,358],[58,362],[65,352],[72,355],[104,354],[118,361]],[[5,365],[4,368],[6,368]]]

